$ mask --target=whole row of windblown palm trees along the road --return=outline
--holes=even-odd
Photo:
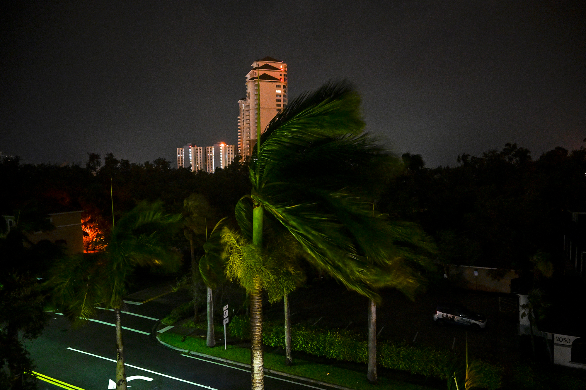
[[[297,98],[270,122],[250,160],[250,194],[236,204],[239,229],[224,225],[203,196],[185,200],[192,282],[201,278],[207,289],[207,345],[215,344],[212,290],[225,278],[237,281],[250,305],[255,390],[264,388],[263,292],[271,302],[284,299],[287,364],[292,363],[288,294],[304,280],[302,262],[368,297],[368,379],[376,382],[379,290],[396,288],[413,297],[421,283],[418,271],[429,266],[427,254],[435,250],[417,225],[375,210],[376,179],[381,171],[396,170],[398,162],[363,133],[359,108],[350,85],[327,84]],[[105,252],[71,257],[54,270],[55,302],[71,320],[94,316],[98,304],[114,310],[117,389],[126,388],[120,325],[126,278],[136,266],[177,264],[165,240],[181,217],[164,214],[160,204],[140,204],[113,227]],[[197,320],[196,300],[194,305]]]

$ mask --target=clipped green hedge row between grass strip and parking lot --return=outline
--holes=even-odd
[[[243,339],[250,338],[250,322],[246,316],[231,320],[230,334]],[[277,346],[285,344],[285,331],[282,323],[267,321],[263,324],[263,343]],[[291,326],[291,347],[316,356],[332,359],[366,363],[368,343],[362,334],[348,330],[309,327],[305,324]],[[411,374],[447,379],[446,372],[453,354],[447,349],[402,345],[392,341],[377,343],[377,362],[381,367],[403,370]],[[483,385],[498,389],[501,385],[503,368],[479,360],[478,374]]]

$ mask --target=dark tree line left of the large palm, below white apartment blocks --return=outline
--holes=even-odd
[[[179,213],[183,200],[201,193],[222,214],[230,214],[234,204],[249,190],[247,170],[239,160],[213,175],[189,169],[174,169],[163,158],[144,164],[117,159],[112,153],[88,153],[88,162],[57,166],[21,164],[19,159],[4,159],[0,164],[2,214],[36,204],[50,211],[62,205],[85,210],[100,218],[104,228],[111,225],[110,184],[115,218],[130,211],[141,200],[161,200],[168,212]]]

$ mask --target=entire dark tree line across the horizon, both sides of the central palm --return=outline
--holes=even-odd
[[[555,259],[568,212],[586,210],[584,148],[558,147],[532,159],[529,150],[507,143],[479,157],[464,153],[453,167],[428,168],[420,155],[410,153],[403,162],[403,172],[390,175],[377,208],[419,223],[437,241],[440,262],[520,269],[539,251]],[[54,204],[79,207],[105,231],[112,221],[110,183],[115,218],[141,200],[161,200],[166,211],[180,213],[192,193],[205,196],[219,214],[233,215],[250,190],[247,166],[240,161],[213,175],[194,175],[162,158],[136,164],[111,153],[103,160],[88,154],[85,167],[5,159],[0,183],[6,189],[0,192],[4,215],[31,204],[47,210]]]

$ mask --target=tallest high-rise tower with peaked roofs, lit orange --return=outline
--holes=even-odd
[[[238,101],[238,153],[244,158],[250,156],[257,141],[258,115],[262,134],[268,122],[287,106],[287,64],[264,57],[252,67],[246,75],[246,97]]]

